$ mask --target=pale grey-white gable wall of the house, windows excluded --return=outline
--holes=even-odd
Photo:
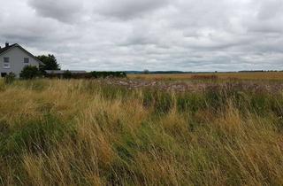
[[[10,68],[4,68],[4,58],[10,58]],[[29,58],[29,63],[24,63],[24,58]],[[11,48],[0,55],[0,76],[1,73],[14,73],[19,77],[20,72],[24,66],[37,66],[39,67],[38,61],[30,56],[24,50],[21,50],[19,47]]]

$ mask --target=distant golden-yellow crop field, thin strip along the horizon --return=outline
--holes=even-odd
[[[131,79],[142,80],[188,80],[197,79],[197,76],[217,76],[218,79],[239,80],[283,80],[283,72],[271,73],[211,73],[211,74],[129,74]]]

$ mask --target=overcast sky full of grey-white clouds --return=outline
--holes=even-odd
[[[283,70],[282,0],[0,2],[0,45],[63,69]]]

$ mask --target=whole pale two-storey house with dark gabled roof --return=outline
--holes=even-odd
[[[15,43],[5,47],[0,47],[0,77],[9,73],[16,74],[19,77],[20,72],[25,66],[41,66],[42,62],[35,58],[33,54]]]

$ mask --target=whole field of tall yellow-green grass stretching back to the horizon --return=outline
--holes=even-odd
[[[0,185],[283,185],[282,74],[217,75],[0,79]]]

